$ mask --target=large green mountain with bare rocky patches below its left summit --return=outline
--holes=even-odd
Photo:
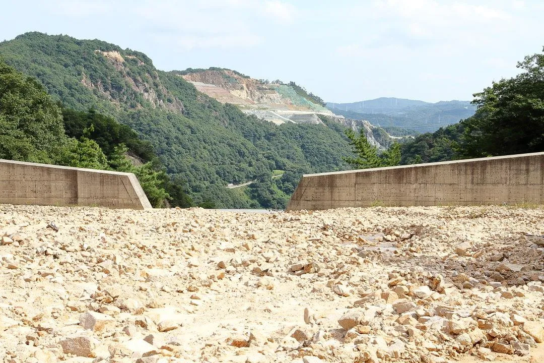
[[[196,204],[281,208],[301,173],[348,169],[344,128],[325,116],[315,125],[259,120],[155,69],[137,51],[34,32],[0,43],[0,55],[64,107],[94,109],[131,127],[168,174],[187,183]],[[285,174],[273,180],[275,170]],[[252,180],[245,190],[225,188]]]

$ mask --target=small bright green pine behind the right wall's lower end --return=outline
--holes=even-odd
[[[344,161],[360,169],[393,167],[400,163],[400,144],[393,143],[389,149],[378,154],[378,147],[370,145],[364,134],[364,128],[358,136],[353,130],[345,132],[356,157],[344,157]]]

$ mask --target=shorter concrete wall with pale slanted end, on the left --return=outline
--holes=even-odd
[[[132,173],[0,159],[0,204],[151,208]]]

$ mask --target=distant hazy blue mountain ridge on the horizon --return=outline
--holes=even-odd
[[[338,115],[367,120],[380,127],[398,126],[418,132],[434,132],[472,116],[476,107],[469,101],[436,103],[382,97],[353,103],[327,102],[327,108]]]

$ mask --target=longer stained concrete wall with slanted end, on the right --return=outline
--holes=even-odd
[[[287,210],[544,204],[544,152],[304,175]]]

